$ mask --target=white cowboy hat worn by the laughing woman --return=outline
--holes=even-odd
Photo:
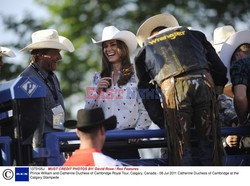
[[[100,41],[96,41],[92,38],[92,42],[100,47],[102,47],[102,43],[105,41],[109,41],[112,39],[123,41],[131,54],[137,47],[137,41],[135,35],[126,30],[118,30],[115,26],[107,26],[102,31],[102,39]]]

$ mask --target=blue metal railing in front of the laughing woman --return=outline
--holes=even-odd
[[[250,127],[222,127],[221,135],[241,135],[250,136]],[[141,141],[136,144],[128,144],[127,139],[153,139]],[[79,140],[75,132],[53,132],[44,136],[44,147],[33,149],[33,158],[46,158],[47,165],[60,166],[64,163],[62,158],[62,152],[73,151],[79,147],[79,144],[65,144],[64,142],[70,142]],[[0,149],[2,151],[3,165],[11,165],[11,138],[0,137]],[[104,148],[158,148],[166,147],[167,142],[165,140],[165,130],[124,130],[124,131],[108,131],[106,133],[106,142]]]

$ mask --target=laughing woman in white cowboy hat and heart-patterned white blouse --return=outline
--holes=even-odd
[[[151,120],[137,92],[137,81],[129,56],[137,46],[135,35],[107,26],[103,29],[102,39],[92,41],[102,47],[102,71],[94,75],[92,86],[87,89],[96,90],[97,95],[94,91],[87,93],[85,108],[101,107],[105,117],[115,115],[116,130],[148,129]],[[135,96],[131,96],[131,90]],[[138,139],[128,140],[128,143],[136,142]],[[140,158],[137,149],[105,149],[104,154],[115,159]]]

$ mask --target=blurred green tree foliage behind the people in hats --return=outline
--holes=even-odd
[[[41,22],[29,16],[23,22],[15,23],[6,19],[4,23],[7,29],[12,29],[20,36],[20,40],[15,43],[16,47],[29,43],[23,40],[25,34],[30,37],[32,31],[45,27],[56,28],[73,42],[76,51],[73,54],[64,53],[58,70],[66,98],[79,92],[84,93],[85,87],[89,85],[89,81],[86,81],[89,75],[100,70],[101,50],[92,44],[91,38],[99,40],[104,26],[114,25],[135,33],[146,18],[162,12],[173,14],[181,25],[200,26],[204,29],[224,24],[236,26],[239,21],[250,25],[248,0],[36,1],[48,8],[49,20]]]

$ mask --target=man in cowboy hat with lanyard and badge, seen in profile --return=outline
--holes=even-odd
[[[39,30],[32,34],[32,43],[21,51],[31,51],[31,63],[20,76],[35,76],[46,87],[44,126],[38,132],[34,145],[42,145],[42,135],[46,132],[64,131],[65,108],[59,80],[53,71],[62,57],[60,51],[74,51],[71,41],[58,35],[54,29]],[[33,145],[33,146],[34,146]]]

